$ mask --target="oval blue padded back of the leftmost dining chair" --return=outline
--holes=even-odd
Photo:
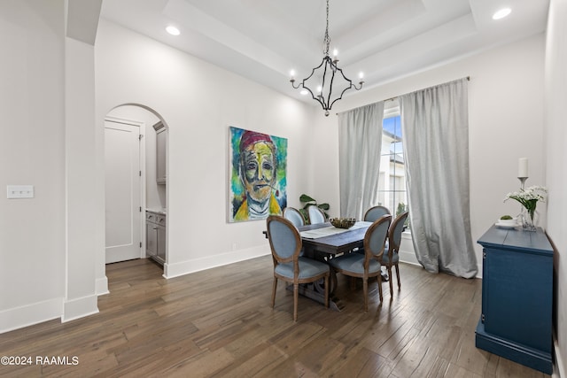
[[[301,251],[301,237],[293,223],[280,215],[270,215],[266,226],[274,265],[297,261]]]

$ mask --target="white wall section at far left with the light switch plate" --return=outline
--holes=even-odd
[[[66,295],[63,10],[0,2],[0,332],[60,317]],[[6,199],[10,184],[35,197]]]

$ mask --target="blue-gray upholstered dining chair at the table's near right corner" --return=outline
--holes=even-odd
[[[364,254],[348,253],[338,258],[330,259],[330,265],[341,274],[362,279],[364,293],[364,311],[369,310],[369,278],[379,277],[382,272],[380,261],[384,255],[384,246],[388,236],[388,228],[392,215],[378,218],[364,235]],[[382,303],[382,280],[378,278],[378,293]]]

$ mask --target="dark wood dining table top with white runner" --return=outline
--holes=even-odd
[[[364,235],[369,225],[366,227],[352,228],[336,235],[322,236],[315,239],[301,237],[304,248],[330,254],[338,254],[360,248],[364,243]],[[333,227],[329,222],[316,225],[307,225],[299,228],[299,232],[317,228]]]

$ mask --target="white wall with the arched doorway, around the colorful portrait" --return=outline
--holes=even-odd
[[[314,109],[105,21],[95,55],[97,133],[120,104],[148,106],[169,127],[166,276],[268,254],[265,222],[227,221],[229,126],[288,138],[288,201],[299,205],[313,182]]]

